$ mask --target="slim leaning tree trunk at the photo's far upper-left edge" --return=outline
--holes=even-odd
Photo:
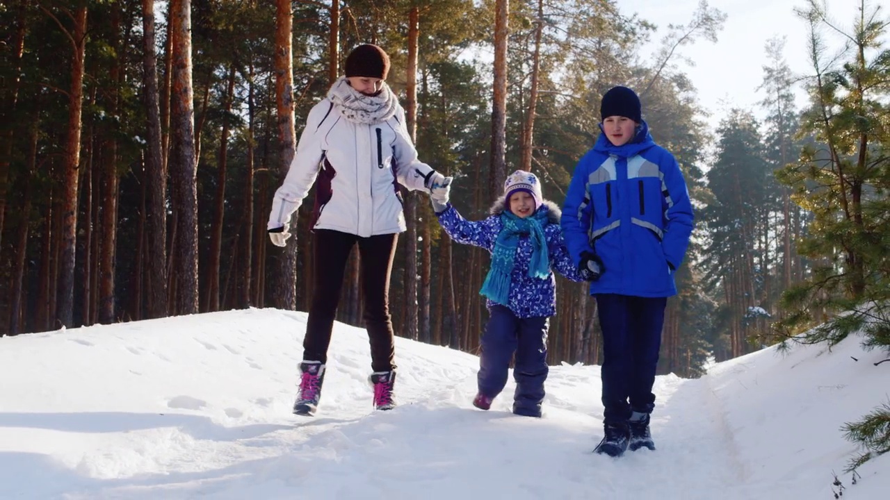
[[[14,120],[12,114],[15,112],[16,103],[19,99],[19,82],[21,79],[21,57],[25,53],[25,13],[28,12],[30,0],[19,0],[19,9],[16,15],[15,36],[12,39],[11,53],[11,81],[4,93],[8,92],[8,99],[0,102],[0,121],[4,125],[2,135],[0,135],[0,147],[3,148],[4,154],[0,154],[0,248],[3,248],[3,230],[6,214],[6,192],[9,184],[9,165],[10,157],[12,157],[12,141],[15,126],[12,124]]]

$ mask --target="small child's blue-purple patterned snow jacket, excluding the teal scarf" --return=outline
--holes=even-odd
[[[481,246],[489,252],[494,250],[498,233],[504,227],[500,222],[500,214],[506,210],[506,198],[500,197],[490,209],[490,216],[481,221],[467,221],[457,213],[449,203],[441,213],[439,223],[452,240],[466,245]],[[550,256],[550,269],[557,270],[562,276],[572,281],[583,281],[578,275],[575,263],[562,240],[560,228],[561,211],[554,202],[544,200],[538,211],[546,210],[547,224],[544,235],[547,241],[547,252]],[[517,318],[549,317],[556,314],[556,280],[551,271],[547,278],[530,278],[529,261],[531,259],[531,243],[528,237],[522,237],[516,247],[513,272],[510,274],[510,303],[501,304],[508,307]],[[493,303],[487,301],[490,308]]]

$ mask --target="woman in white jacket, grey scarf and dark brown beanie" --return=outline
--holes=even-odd
[[[346,58],[345,76],[309,112],[284,183],[275,192],[269,237],[285,246],[290,217],[318,181],[312,230],[315,277],[303,339],[296,415],[314,415],[321,396],[331,329],[352,246],[358,244],[371,345],[374,407],[395,406],[395,364],[388,294],[398,235],[405,230],[399,186],[447,192],[444,177],[417,160],[405,111],[386,85],[389,56],[363,44]],[[447,196],[447,195],[444,195]]]

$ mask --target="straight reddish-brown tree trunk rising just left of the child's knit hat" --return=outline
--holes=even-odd
[[[489,196],[498,198],[506,179],[506,43],[510,0],[497,0],[495,8],[494,85],[491,99],[491,164]]]

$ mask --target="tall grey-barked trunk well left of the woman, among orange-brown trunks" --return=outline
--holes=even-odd
[[[166,169],[161,149],[158,69],[155,58],[155,0],[142,0],[142,97],[146,114],[145,166],[150,190],[148,317],[163,318],[166,301]]]

